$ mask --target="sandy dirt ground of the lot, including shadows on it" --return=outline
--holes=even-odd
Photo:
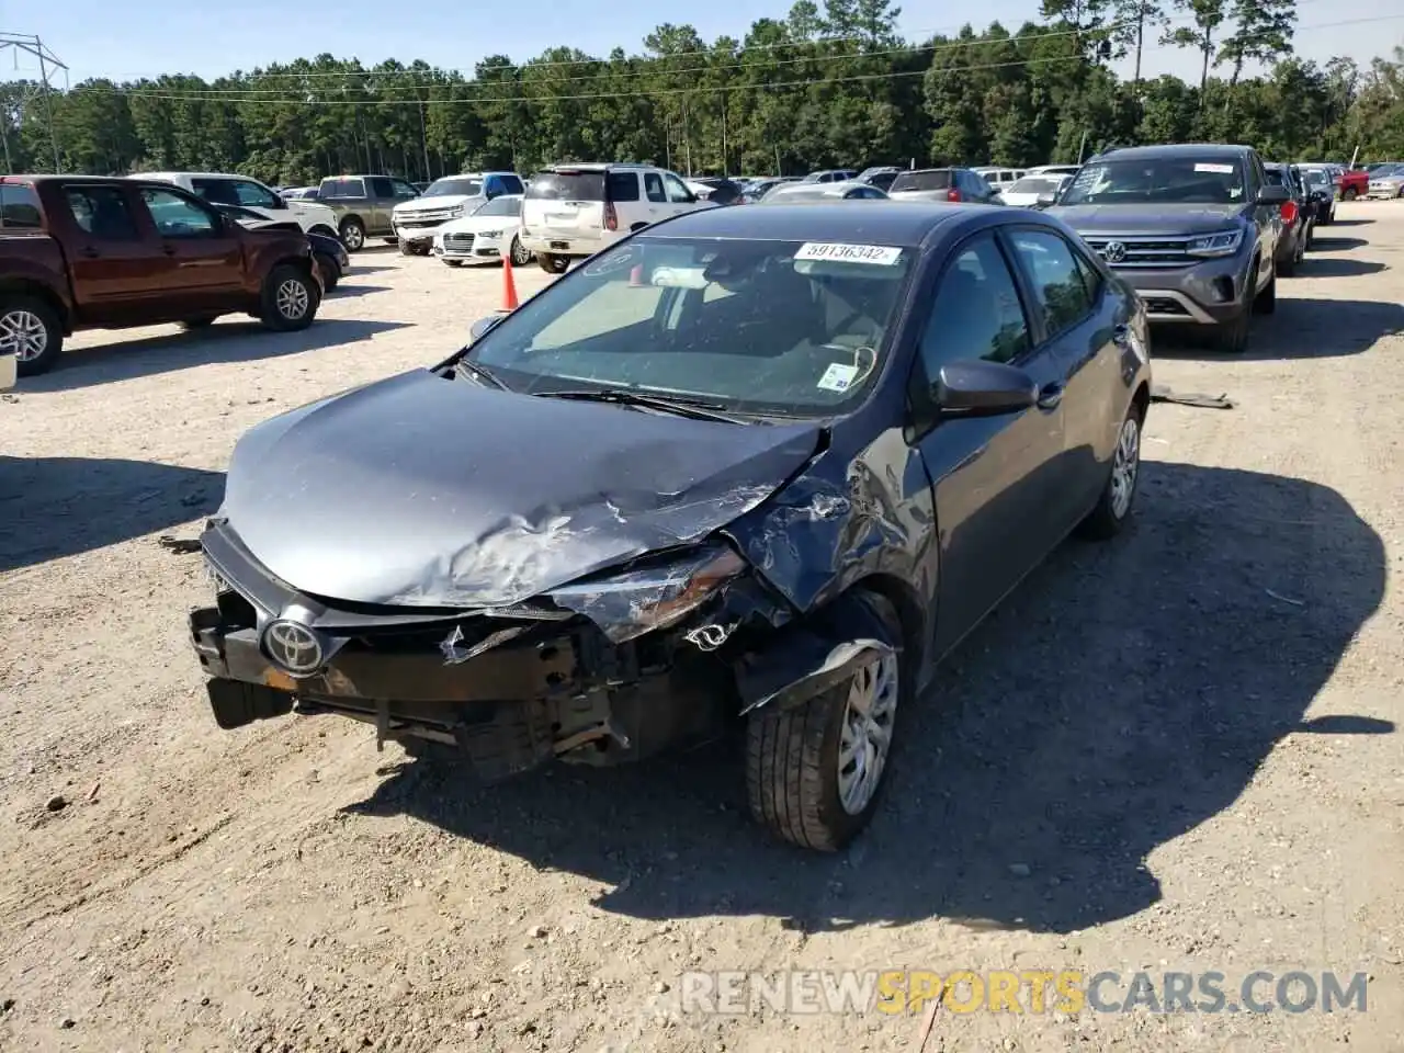
[[[157,535],[498,271],[369,251],[303,334],[76,338],[0,402],[0,1049],[918,1047],[680,1011],[687,969],[783,967],[1359,970],[1365,1014],[943,1009],[925,1049],[1404,1049],[1404,208],[1339,216],[1247,358],[1157,347],[1238,407],[1153,407],[1136,529],[962,647],[837,858],[754,830],[722,748],[479,790],[345,722],[213,726]]]

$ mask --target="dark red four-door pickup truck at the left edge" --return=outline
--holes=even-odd
[[[0,177],[0,357],[21,376],[49,369],[80,329],[244,312],[295,330],[320,302],[300,230],[246,230],[168,183]]]

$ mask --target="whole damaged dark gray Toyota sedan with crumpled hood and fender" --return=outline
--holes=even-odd
[[[338,713],[484,779],[740,720],[755,819],[837,849],[936,661],[1126,521],[1148,347],[1042,213],[647,227],[240,439],[190,618],[215,720]]]

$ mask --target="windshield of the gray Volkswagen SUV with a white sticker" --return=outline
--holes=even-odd
[[[1237,161],[1146,157],[1084,166],[1063,191],[1059,205],[1237,205],[1243,197],[1244,178]]]

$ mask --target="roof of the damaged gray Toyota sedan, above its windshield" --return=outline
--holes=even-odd
[[[998,205],[917,205],[886,201],[834,201],[769,208],[705,208],[644,229],[639,237],[720,237],[737,241],[838,241],[915,247],[942,223],[974,212],[1009,215]]]

